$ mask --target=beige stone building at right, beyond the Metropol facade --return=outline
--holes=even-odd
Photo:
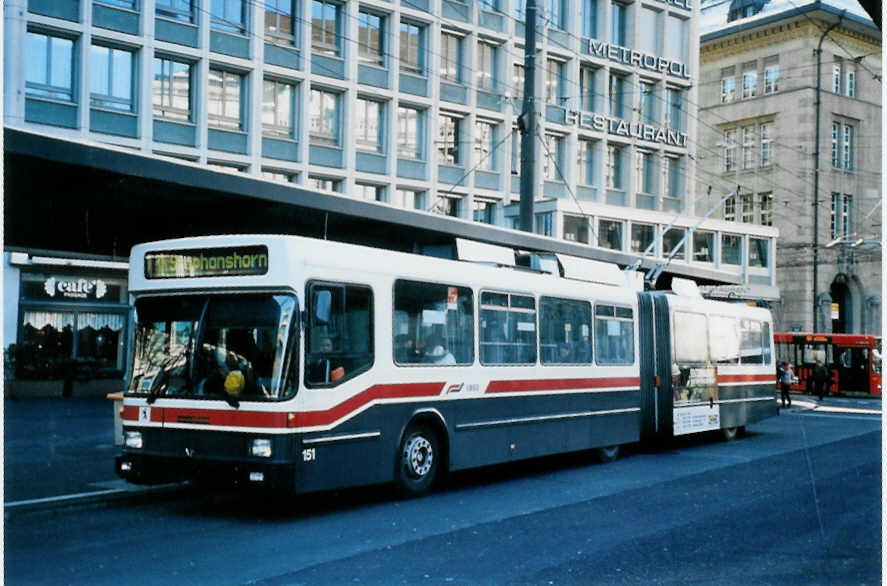
[[[700,32],[697,172],[779,229],[777,331],[879,333],[881,32],[854,0],[715,0]]]

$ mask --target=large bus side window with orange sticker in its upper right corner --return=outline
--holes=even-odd
[[[471,289],[395,282],[393,332],[395,364],[472,364],[474,296]]]

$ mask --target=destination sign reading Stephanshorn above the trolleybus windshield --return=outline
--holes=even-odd
[[[267,246],[159,250],[145,254],[146,279],[234,277],[267,272]]]

